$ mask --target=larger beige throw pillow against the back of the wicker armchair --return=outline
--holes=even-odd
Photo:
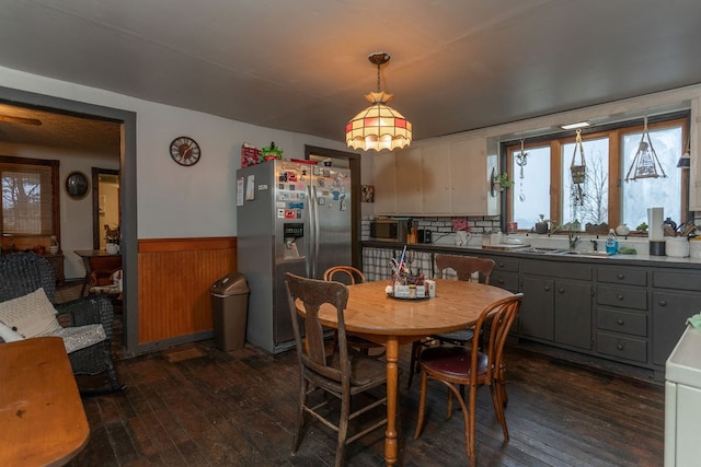
[[[44,289],[0,303],[0,322],[25,339],[49,335],[61,326]]]

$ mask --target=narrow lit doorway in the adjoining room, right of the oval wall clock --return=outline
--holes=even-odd
[[[119,231],[119,171],[92,167],[92,247],[104,250],[106,230]]]

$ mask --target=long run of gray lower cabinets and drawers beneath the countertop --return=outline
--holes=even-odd
[[[379,279],[387,253],[365,249],[364,268]],[[660,381],[687,318],[701,313],[701,265],[456,254],[494,259],[490,283],[524,293],[515,336],[653,370]]]

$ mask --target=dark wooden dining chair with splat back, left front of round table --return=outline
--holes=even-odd
[[[387,370],[384,363],[350,349],[346,342],[344,311],[348,301],[348,288],[335,281],[307,279],[287,272],[285,285],[292,318],[295,342],[299,360],[299,409],[292,439],[292,455],[297,453],[304,415],[309,413],[337,432],[335,465],[343,465],[344,448],[348,443],[387,424],[387,410],[372,422],[364,417],[363,429],[348,436],[348,422],[361,413],[387,405]],[[304,340],[298,319],[298,304],[303,306]],[[338,346],[326,351],[324,328],[319,318],[322,305],[333,306],[337,319]],[[376,389],[372,392],[371,389]],[[337,423],[329,416],[330,399],[314,396],[322,392],[341,401]],[[379,393],[379,394],[374,394]],[[359,394],[372,396],[354,398]],[[357,404],[350,406],[352,398]],[[353,410],[353,411],[352,411]]]

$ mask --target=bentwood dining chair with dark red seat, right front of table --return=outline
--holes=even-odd
[[[486,349],[480,350],[479,339],[472,339],[469,347],[440,345],[427,348],[418,357],[422,371],[418,418],[414,439],[421,435],[426,409],[426,392],[428,380],[438,381],[450,389],[448,397],[448,418],[452,415],[453,396],[462,409],[464,437],[470,465],[476,465],[475,454],[475,410],[479,386],[490,386],[492,405],[496,419],[502,425],[504,441],[508,441],[506,427],[506,366],[504,364],[504,345],[509,328],[520,308],[521,293],[502,299],[487,306],[474,325],[475,335],[483,329],[489,332]],[[489,325],[489,330],[485,326]],[[468,386],[468,404],[466,405],[458,386]]]

